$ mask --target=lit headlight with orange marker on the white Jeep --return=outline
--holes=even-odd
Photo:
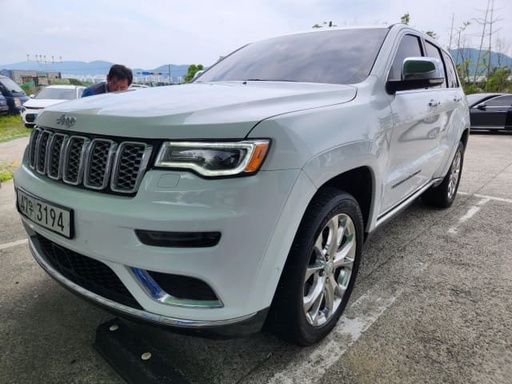
[[[165,142],[157,167],[190,169],[202,176],[253,174],[260,168],[270,140],[235,143]]]

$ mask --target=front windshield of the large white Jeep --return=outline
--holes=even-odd
[[[195,82],[359,83],[368,77],[387,31],[326,30],[260,41],[235,51]]]

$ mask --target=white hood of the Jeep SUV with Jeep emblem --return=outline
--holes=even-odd
[[[222,82],[108,93],[49,107],[37,124],[84,133],[146,138],[243,138],[260,121],[345,103],[347,85]],[[59,126],[61,117],[73,124]],[[70,119],[68,119],[70,120]],[[142,131],[142,132],[141,132]]]

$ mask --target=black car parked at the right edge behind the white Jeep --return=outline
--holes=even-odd
[[[512,130],[512,94],[475,93],[467,98],[471,129]]]

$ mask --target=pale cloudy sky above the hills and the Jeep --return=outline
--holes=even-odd
[[[209,66],[246,43],[314,24],[389,25],[406,13],[444,47],[470,22],[461,41],[478,47],[493,3],[493,49],[512,56],[511,0],[0,0],[0,66],[44,57]]]

